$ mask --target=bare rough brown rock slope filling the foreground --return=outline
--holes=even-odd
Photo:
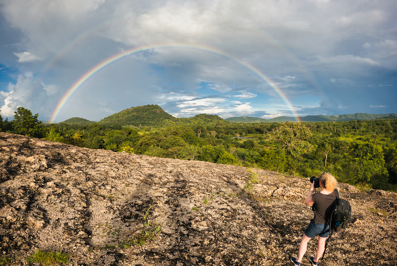
[[[310,185],[0,132],[0,256],[28,265],[38,248],[72,265],[290,265],[313,218],[303,203]],[[339,191],[353,215],[321,265],[397,265],[396,193]],[[317,238],[302,265],[316,248]]]

